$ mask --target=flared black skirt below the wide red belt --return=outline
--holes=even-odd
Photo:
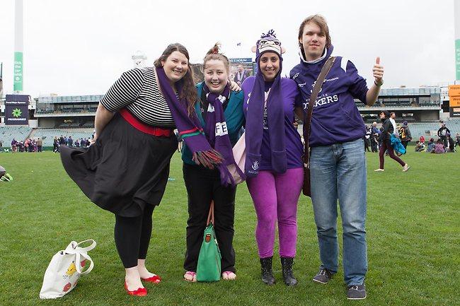
[[[61,146],[62,165],[100,208],[118,216],[139,216],[145,205],[159,205],[163,197],[178,146],[171,134],[145,134],[115,114],[88,149]]]

